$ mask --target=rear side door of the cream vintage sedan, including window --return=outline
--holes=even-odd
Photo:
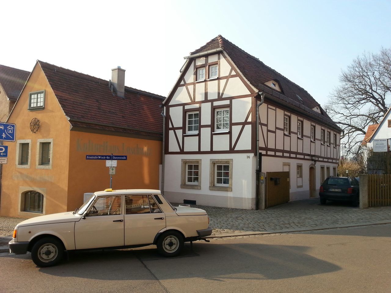
[[[152,244],[166,217],[151,195],[125,195],[125,245]]]

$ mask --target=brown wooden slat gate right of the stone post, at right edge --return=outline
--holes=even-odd
[[[368,175],[368,207],[391,205],[391,175]]]

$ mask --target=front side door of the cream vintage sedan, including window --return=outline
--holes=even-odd
[[[123,196],[97,197],[85,219],[75,223],[76,249],[124,245]]]

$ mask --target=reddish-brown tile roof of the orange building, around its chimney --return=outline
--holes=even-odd
[[[113,96],[108,80],[37,62],[72,126],[162,136],[165,97],[129,87],[125,98]]]

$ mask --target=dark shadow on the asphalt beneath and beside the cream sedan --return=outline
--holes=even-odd
[[[152,274],[140,273],[144,267],[160,280],[286,279],[341,270],[335,264],[307,254],[308,250],[305,246],[289,245],[194,243],[193,251],[186,244],[178,258],[160,257],[154,249],[75,252],[69,261],[38,270],[57,277],[96,280],[153,279]],[[29,258],[25,263],[30,261]]]

